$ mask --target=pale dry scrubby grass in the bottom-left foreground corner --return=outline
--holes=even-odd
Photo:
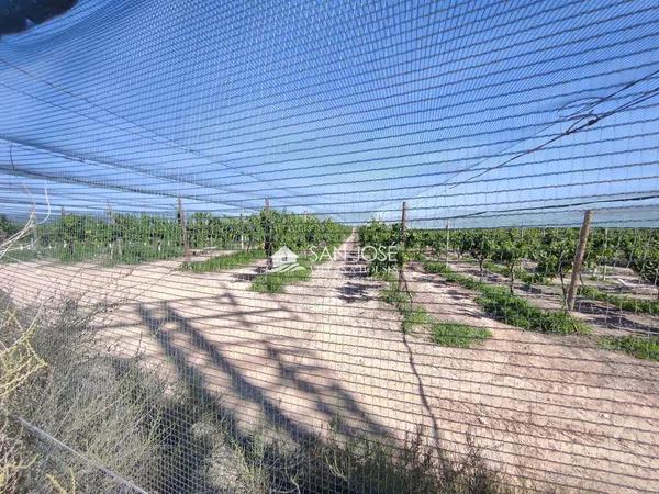
[[[15,417],[22,417],[120,475],[164,492],[158,485],[164,476],[158,474],[159,465],[165,472],[174,460],[168,445],[158,442],[167,400],[165,380],[139,368],[136,360],[101,352],[94,346],[98,336],[91,315],[82,313],[77,301],[44,313],[41,307],[18,311],[4,296],[0,304],[3,329],[12,318],[20,321],[12,332],[2,332],[2,345],[15,336],[29,337],[30,347],[21,353],[34,352],[46,366],[35,379],[23,380],[20,392],[4,396],[0,423],[12,417],[11,424],[18,426]],[[0,431],[3,445],[3,433],[22,442],[26,459],[25,468],[15,472],[12,492],[64,492],[55,489],[57,484],[69,486],[66,492],[71,493],[116,491],[118,485],[99,469],[49,440],[35,440],[33,433],[19,430]]]

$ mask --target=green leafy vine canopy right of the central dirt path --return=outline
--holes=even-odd
[[[481,277],[488,267],[505,274],[511,285],[516,280],[546,284],[558,278],[561,288],[579,243],[578,228],[413,229],[401,237],[400,226],[372,222],[359,235],[362,244],[402,243],[410,259],[428,252],[457,261],[469,256],[478,262]],[[583,266],[592,277],[603,278],[607,267],[630,268],[640,281],[657,289],[659,300],[659,231],[596,228],[589,237]]]

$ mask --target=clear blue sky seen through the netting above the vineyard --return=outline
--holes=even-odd
[[[656,226],[659,3],[79,0],[0,38],[0,211]]]

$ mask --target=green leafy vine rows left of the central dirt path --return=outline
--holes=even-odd
[[[0,220],[0,235],[8,237],[20,225]],[[186,224],[156,215],[109,213],[107,217],[65,214],[40,225],[27,242],[12,246],[4,261],[52,258],[63,262],[98,259],[104,265],[139,263],[185,254],[186,242],[194,250],[255,250],[264,248],[265,231],[270,228],[272,247],[287,245],[304,251],[312,245],[335,245],[349,228],[332,220],[293,215],[277,211],[238,218],[194,213]],[[183,242],[186,236],[186,242]]]

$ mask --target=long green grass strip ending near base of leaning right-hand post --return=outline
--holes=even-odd
[[[543,311],[504,287],[493,287],[471,277],[457,273],[442,262],[425,262],[427,272],[439,273],[446,281],[458,283],[467,290],[480,292],[476,299],[488,315],[511,326],[540,333],[560,335],[588,334],[590,328],[563,311]]]

